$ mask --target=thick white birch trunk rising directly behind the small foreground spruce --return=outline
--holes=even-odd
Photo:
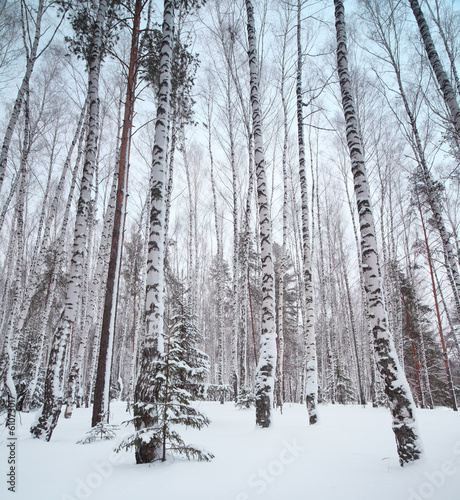
[[[164,352],[164,219],[173,31],[174,2],[164,0],[160,89],[150,180],[150,234],[147,257],[145,333],[140,354],[139,377],[134,395],[137,431],[154,427],[158,420],[156,397],[159,389],[155,366],[158,356]],[[160,454],[161,450],[154,441],[142,442],[136,446],[137,463],[153,462],[160,458]]]

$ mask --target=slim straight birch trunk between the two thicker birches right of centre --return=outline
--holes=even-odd
[[[303,241],[303,275],[305,286],[305,355],[306,355],[306,388],[305,402],[307,404],[310,424],[318,420],[316,406],[318,400],[318,367],[316,361],[316,339],[313,304],[313,274],[310,247],[310,214],[308,210],[307,175],[305,170],[305,141],[303,135],[303,102],[302,102],[302,31],[301,31],[301,0],[297,3],[297,137],[299,144],[299,176],[300,195],[302,200],[302,241]]]

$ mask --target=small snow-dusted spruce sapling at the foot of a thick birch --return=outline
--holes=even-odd
[[[207,426],[209,419],[191,403],[197,384],[209,371],[208,356],[196,344],[201,338],[188,306],[179,305],[179,312],[171,320],[165,352],[158,355],[155,367],[156,418],[153,425],[142,427],[123,440],[116,451],[139,448],[143,443],[156,450],[152,461],[165,461],[168,452],[187,459],[211,460],[214,455],[187,445],[176,430],[177,425],[195,429]],[[129,422],[142,419],[143,412],[152,414],[151,404],[135,403],[137,416]],[[139,428],[140,426],[136,426]]]

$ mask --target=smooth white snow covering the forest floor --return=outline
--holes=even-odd
[[[306,409],[286,405],[269,429],[255,428],[254,410],[232,403],[198,403],[212,420],[202,431],[183,430],[187,443],[211,451],[212,462],[173,459],[136,465],[116,440],[76,444],[91,413],[61,418],[50,443],[29,437],[33,414],[18,418],[16,492],[7,487],[6,429],[0,436],[0,498],[15,500],[458,500],[460,415],[417,412],[424,458],[401,468],[386,409],[321,406],[307,425]],[[112,423],[129,418],[112,403]],[[2,421],[4,418],[2,417]],[[19,422],[20,420],[20,422]]]

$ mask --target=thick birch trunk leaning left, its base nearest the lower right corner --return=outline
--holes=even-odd
[[[343,0],[334,0],[335,25],[337,30],[337,67],[342,93],[342,106],[346,123],[347,143],[350,151],[355,196],[361,232],[362,266],[369,303],[369,319],[375,341],[379,372],[385,383],[393,416],[393,432],[399,455],[404,465],[417,460],[421,455],[414,416],[414,403],[395,352],[393,337],[388,330],[387,313],[381,288],[381,273],[378,262],[375,223],[372,213],[370,190],[367,180],[361,138],[358,133],[356,106],[348,72],[348,50],[346,45],[345,15]]]

